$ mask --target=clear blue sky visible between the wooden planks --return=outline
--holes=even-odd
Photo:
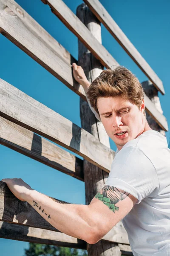
[[[57,0],[56,0],[57,1]],[[40,0],[17,0],[74,58],[78,58],[77,38]],[[64,0],[76,13],[82,0]],[[170,1],[169,0],[100,0],[110,15],[163,81],[165,95],[161,107],[170,126]],[[130,69],[140,80],[147,77],[102,26],[102,44],[119,64]],[[34,99],[81,126],[79,96],[37,64],[31,57],[0,34],[0,78],[6,80]],[[169,142],[170,133],[167,132]],[[115,145],[111,142],[111,148]],[[21,177],[34,189],[60,200],[85,204],[84,183],[43,165],[29,157],[0,145],[3,178]],[[71,201],[70,201],[71,200]],[[28,243],[0,239],[1,256],[23,256]]]

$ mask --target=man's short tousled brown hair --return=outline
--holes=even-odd
[[[91,106],[97,109],[99,97],[121,96],[131,103],[140,107],[144,99],[144,91],[139,80],[125,67],[118,66],[115,70],[103,70],[102,73],[91,83],[87,97]]]

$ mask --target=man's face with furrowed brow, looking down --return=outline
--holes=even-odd
[[[144,102],[140,109],[120,96],[99,97],[97,108],[108,136],[120,150],[144,130]],[[123,134],[122,134],[123,133]]]

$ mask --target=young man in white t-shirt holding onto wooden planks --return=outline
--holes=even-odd
[[[117,146],[105,186],[87,206],[54,202],[21,179],[2,181],[63,233],[94,244],[123,219],[134,256],[170,255],[170,150],[147,123],[139,80],[117,67],[90,86],[81,67],[73,70]]]

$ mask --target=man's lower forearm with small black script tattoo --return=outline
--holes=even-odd
[[[93,240],[95,218],[87,205],[60,204],[36,190],[31,192],[27,202],[59,231],[88,243]]]

